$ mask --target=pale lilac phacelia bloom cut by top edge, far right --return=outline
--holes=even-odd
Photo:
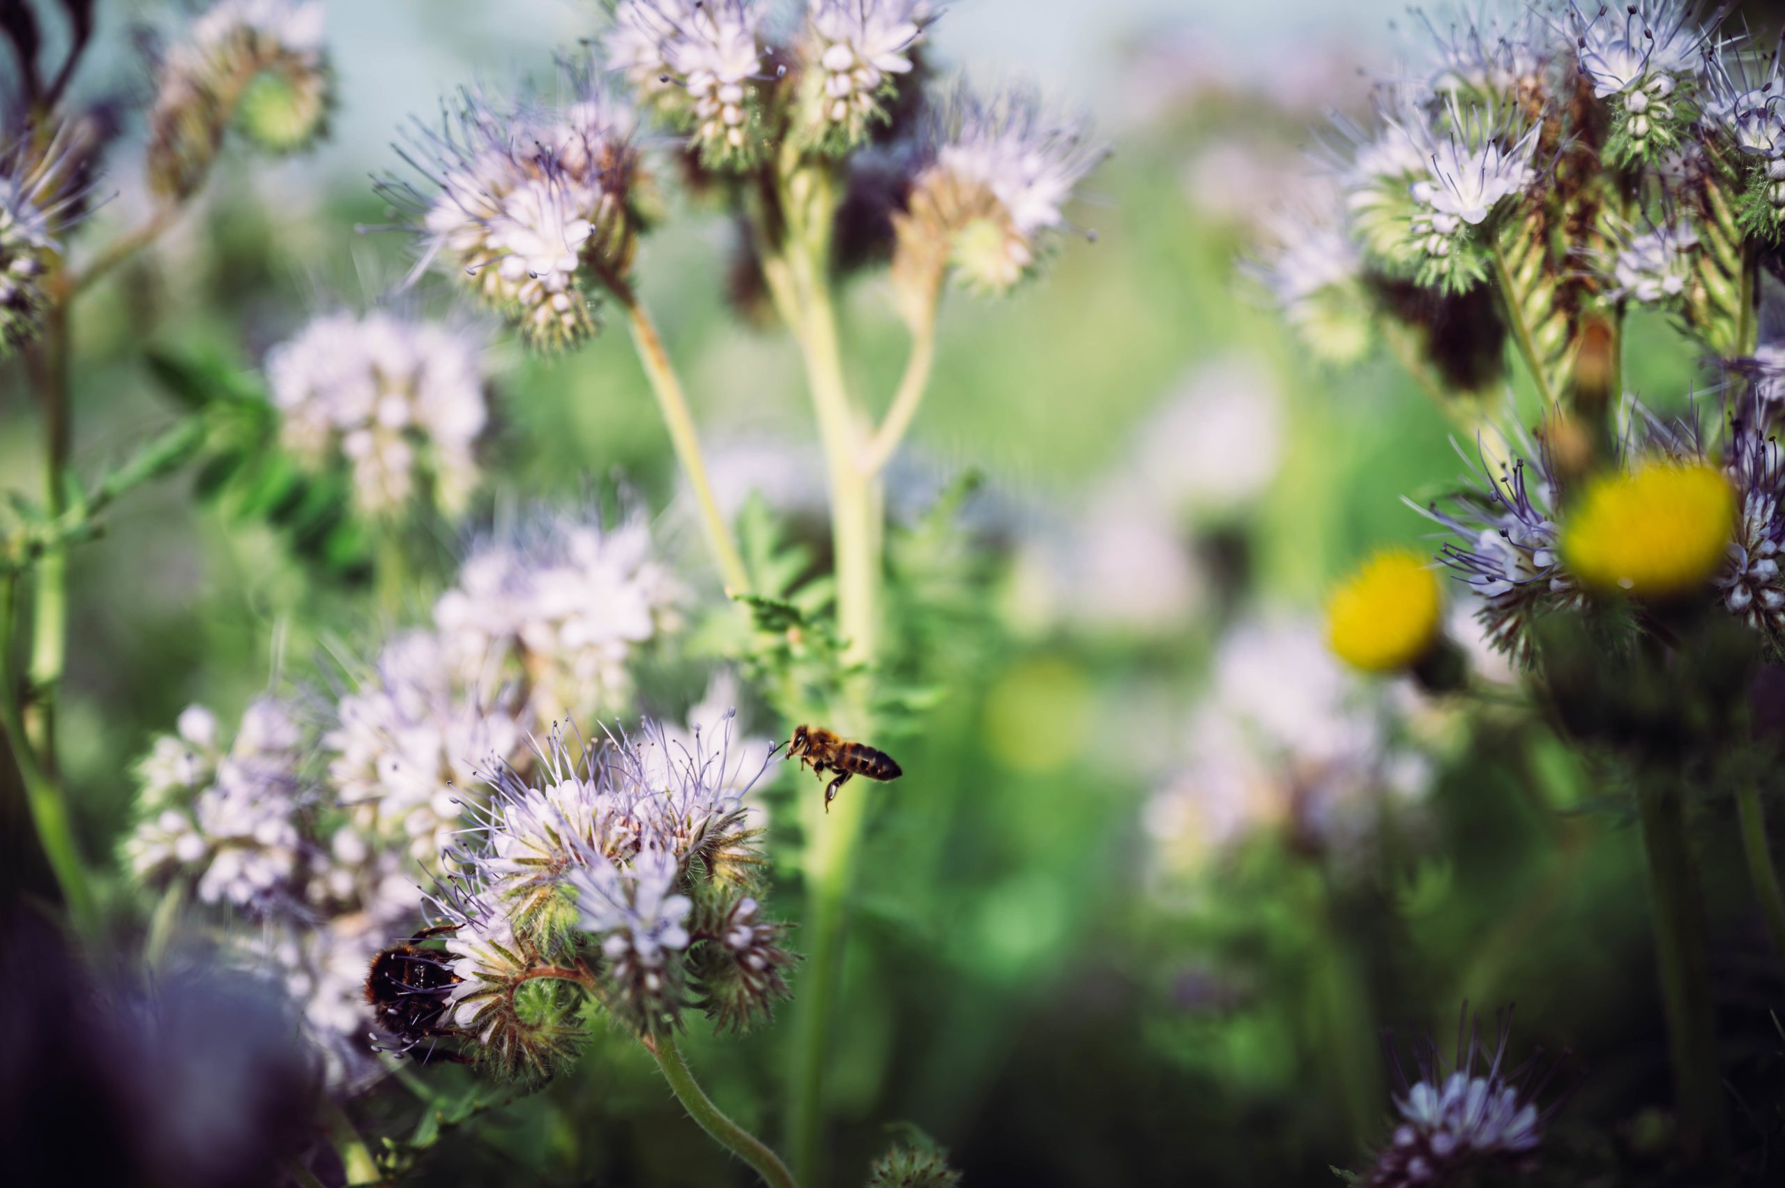
[[[1612,111],[1614,161],[1653,157],[1680,143],[1692,107],[1683,100],[1705,71],[1701,0],[1574,4],[1564,21],[1580,71]]]

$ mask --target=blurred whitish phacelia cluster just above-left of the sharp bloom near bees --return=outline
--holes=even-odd
[[[368,838],[407,843],[439,868],[469,825],[477,774],[519,754],[525,711],[514,691],[466,672],[428,631],[391,640],[323,738],[328,779]]]

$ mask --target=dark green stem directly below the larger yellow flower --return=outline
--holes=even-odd
[[[1665,777],[1637,786],[1642,849],[1649,865],[1655,911],[1655,958],[1660,965],[1674,1097],[1689,1149],[1730,1168],[1730,1120],[1717,1068],[1717,1020],[1710,997],[1705,947],[1705,904],[1687,836],[1685,804]]]

